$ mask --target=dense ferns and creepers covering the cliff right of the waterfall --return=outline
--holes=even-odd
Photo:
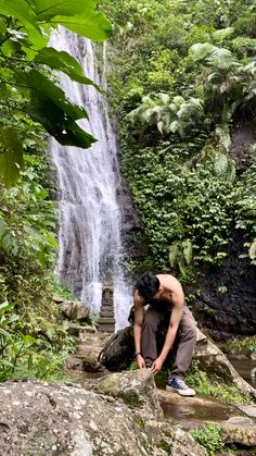
[[[123,172],[149,247],[130,269],[191,283],[200,266],[221,263],[234,230],[256,264],[255,2],[104,5]],[[254,140],[235,152],[234,135],[246,130]]]

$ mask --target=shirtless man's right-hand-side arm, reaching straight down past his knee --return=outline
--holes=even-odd
[[[180,289],[171,293],[171,301],[174,305],[174,309],[171,311],[168,331],[165,337],[165,343],[162,348],[162,352],[159,356],[156,358],[156,360],[153,362],[153,373],[157,373],[162,369],[162,366],[175,342],[175,337],[179,328],[184,306],[184,294],[181,287]]]

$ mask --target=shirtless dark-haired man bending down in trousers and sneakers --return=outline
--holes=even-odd
[[[144,306],[149,305],[144,310]],[[195,344],[195,320],[184,306],[181,284],[169,274],[145,272],[137,282],[135,293],[135,346],[140,369],[152,373],[162,369],[169,352],[174,356],[166,390],[181,396],[194,396],[194,390],[184,383]],[[163,348],[157,354],[157,335],[167,330]]]

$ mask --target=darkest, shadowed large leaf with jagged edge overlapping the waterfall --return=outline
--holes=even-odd
[[[34,94],[33,103],[27,112],[35,122],[39,122],[60,144],[88,148],[95,139],[82,128],[74,119],[68,118],[54,100],[38,93]]]

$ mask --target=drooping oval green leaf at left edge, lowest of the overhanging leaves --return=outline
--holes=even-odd
[[[0,127],[0,176],[7,187],[12,186],[23,169],[23,146],[17,132],[12,127]]]

